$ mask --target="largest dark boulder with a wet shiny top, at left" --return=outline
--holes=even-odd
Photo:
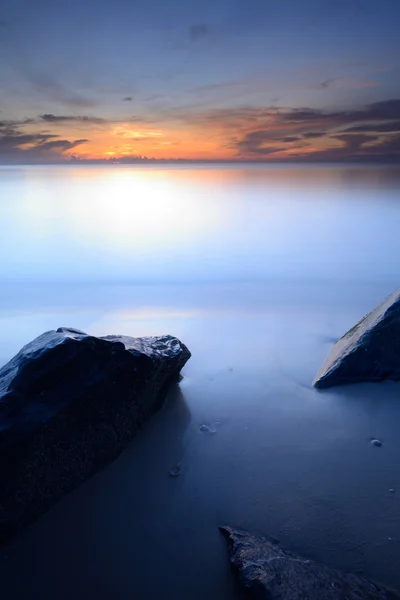
[[[190,352],[171,336],[48,331],[0,369],[0,543],[114,460]]]

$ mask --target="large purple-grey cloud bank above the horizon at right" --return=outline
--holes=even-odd
[[[210,113],[207,118],[222,119],[225,126],[242,130],[241,134],[235,135],[229,146],[236,148],[238,156],[262,158],[281,152],[282,144],[286,144],[285,150],[290,149],[291,156],[296,151],[296,158],[300,160],[302,156],[307,156],[310,160],[311,157],[327,160],[380,160],[380,153],[387,156],[389,151],[392,159],[400,158],[396,143],[391,141],[393,134],[400,131],[400,100],[397,99],[369,104],[359,110],[334,113],[312,108],[275,111],[271,108],[243,108],[229,111],[224,116],[221,111]],[[350,123],[355,124],[343,130]],[[316,124],[323,127],[323,130],[315,131]],[[315,138],[326,138],[324,146],[331,147],[317,150],[309,146],[307,140]],[[299,145],[300,140],[303,143]],[[341,142],[341,146],[332,146],[334,140]]]

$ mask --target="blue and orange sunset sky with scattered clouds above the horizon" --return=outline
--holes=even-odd
[[[0,164],[400,159],[399,0],[2,0]]]

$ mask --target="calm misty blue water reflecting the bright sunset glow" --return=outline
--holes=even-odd
[[[0,552],[6,600],[241,598],[221,523],[400,589],[400,384],[310,386],[399,284],[398,168],[0,168],[0,218],[1,363],[62,325],[193,353],[120,459]]]

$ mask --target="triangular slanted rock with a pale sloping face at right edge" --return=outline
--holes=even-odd
[[[366,315],[333,346],[313,385],[400,379],[400,290]]]

